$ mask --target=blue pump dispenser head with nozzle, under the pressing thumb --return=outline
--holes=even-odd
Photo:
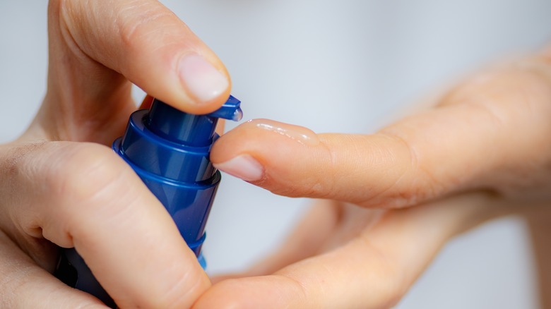
[[[240,104],[230,97],[211,114],[194,115],[155,99],[149,111],[132,114],[113,149],[131,165],[156,176],[185,183],[206,181],[215,173],[209,154],[218,138],[218,119],[241,119]]]

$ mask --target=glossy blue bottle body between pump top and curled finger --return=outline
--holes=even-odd
[[[136,111],[126,133],[113,143],[117,152],[165,205],[180,234],[199,257],[206,219],[214,201],[220,172],[208,159],[211,145],[193,147],[153,133],[148,112]],[[212,140],[215,140],[213,135]],[[197,207],[201,205],[201,207]]]

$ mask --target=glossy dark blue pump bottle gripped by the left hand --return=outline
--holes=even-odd
[[[212,165],[209,154],[218,138],[218,119],[239,121],[240,104],[230,96],[217,111],[193,115],[155,99],[149,110],[130,116],[126,132],[112,146],[165,206],[203,268],[205,225],[220,183],[220,171]],[[63,251],[56,277],[115,308],[76,250]]]

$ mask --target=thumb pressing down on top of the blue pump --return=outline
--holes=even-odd
[[[153,97],[194,113],[213,111],[229,97],[220,59],[160,2],[55,2],[79,49]]]

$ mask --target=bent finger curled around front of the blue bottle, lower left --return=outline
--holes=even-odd
[[[172,218],[112,150],[60,142],[11,155],[3,179],[17,186],[3,196],[16,200],[4,226],[74,246],[120,307],[187,308],[210,285]]]

